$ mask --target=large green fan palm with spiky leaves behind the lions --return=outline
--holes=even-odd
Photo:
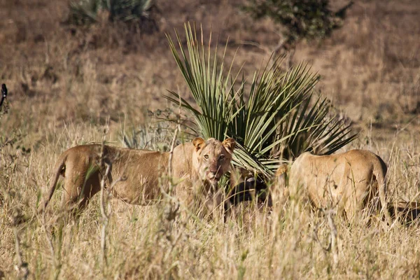
[[[172,91],[165,97],[193,114],[196,134],[234,137],[235,165],[269,177],[282,160],[304,151],[333,153],[356,138],[343,120],[330,116],[328,99],[314,98],[319,76],[307,64],[283,72],[274,63],[255,71],[247,86],[241,70],[232,73],[233,62],[225,66],[226,46],[219,60],[218,48],[204,46],[202,31],[199,40],[195,27],[186,25],[186,48],[178,33],[179,49],[167,38],[195,104]]]

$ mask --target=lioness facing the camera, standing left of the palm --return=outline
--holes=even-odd
[[[171,174],[173,179],[181,183],[176,186],[175,195],[181,196],[183,202],[190,203],[199,186],[204,187],[200,188],[202,192],[214,192],[218,181],[230,168],[235,144],[232,138],[223,142],[213,138],[207,141],[195,138],[193,142],[176,146]],[[100,183],[106,170],[100,166],[101,158],[111,166],[108,180],[109,185],[113,186],[114,197],[130,204],[151,204],[160,198],[159,180],[167,174],[169,156],[169,152],[101,145],[70,148],[59,156],[55,164],[55,175],[43,209],[50,202],[60,175],[64,176],[63,207],[86,207],[90,198],[101,190]]]

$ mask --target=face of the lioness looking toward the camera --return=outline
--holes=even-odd
[[[197,173],[203,181],[208,181],[211,185],[216,186],[223,174],[230,168],[235,140],[228,138],[221,142],[214,138],[207,141],[195,138],[193,144],[195,146],[193,162]]]

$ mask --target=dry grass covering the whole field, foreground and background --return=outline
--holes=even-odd
[[[251,71],[268,58],[262,49],[278,43],[276,27],[269,20],[249,20],[237,9],[241,2],[158,1],[160,31],[129,39],[118,26],[75,32],[61,25],[64,0],[0,0],[0,78],[8,85],[10,105],[0,119],[0,143],[15,139],[0,151],[0,279],[24,276],[25,263],[31,279],[420,276],[418,226],[388,227],[379,218],[370,226],[349,226],[336,217],[335,255],[328,248],[328,219],[296,201],[268,217],[258,214],[251,223],[181,217],[168,228],[163,207],[113,200],[106,263],[99,195],[76,222],[54,219],[61,190],[45,223],[36,215],[38,195],[45,192],[59,153],[102,141],[108,119],[106,140],[122,146],[121,134],[148,127],[147,109],[166,107],[167,89],[188,97],[165,31],[195,19],[221,42],[230,36],[227,56],[239,47],[235,67],[246,62],[246,72]],[[388,194],[395,201],[419,200],[419,16],[415,0],[356,1],[332,38],[315,47],[302,43],[293,57],[314,64],[323,76],[321,90],[360,128],[360,139],[348,148],[367,148],[388,163]],[[116,40],[119,36],[124,39]],[[151,130],[142,145],[150,147],[148,140],[159,134]],[[30,221],[13,226],[21,216]]]

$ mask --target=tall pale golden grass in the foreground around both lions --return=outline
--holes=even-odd
[[[123,125],[111,128],[106,141],[121,145],[118,135],[122,130]],[[331,221],[328,216],[312,213],[304,200],[291,200],[269,215],[251,209],[245,218],[250,219],[248,222],[241,217],[223,223],[221,218],[180,216],[171,227],[165,220],[165,202],[139,207],[111,200],[106,262],[102,262],[99,195],[77,221],[62,223],[57,218],[61,189],[54,195],[45,221],[36,214],[38,195],[45,192],[52,177],[55,158],[76,144],[102,141],[102,130],[69,125],[66,132],[45,132],[53,136],[29,155],[20,153],[10,158],[14,149],[1,152],[0,270],[6,278],[18,276],[14,229],[20,239],[22,262],[27,263],[29,278],[34,279],[419,276],[416,244],[420,228],[416,224],[407,227],[395,223],[390,227],[377,214],[371,225],[349,225],[341,217],[332,216],[337,245],[331,246]],[[392,142],[381,142],[370,137],[372,146],[358,141],[349,147],[370,148],[382,155],[389,167],[391,201],[412,200],[418,195],[419,138],[404,138],[397,135]],[[17,214],[29,221],[13,226]]]

